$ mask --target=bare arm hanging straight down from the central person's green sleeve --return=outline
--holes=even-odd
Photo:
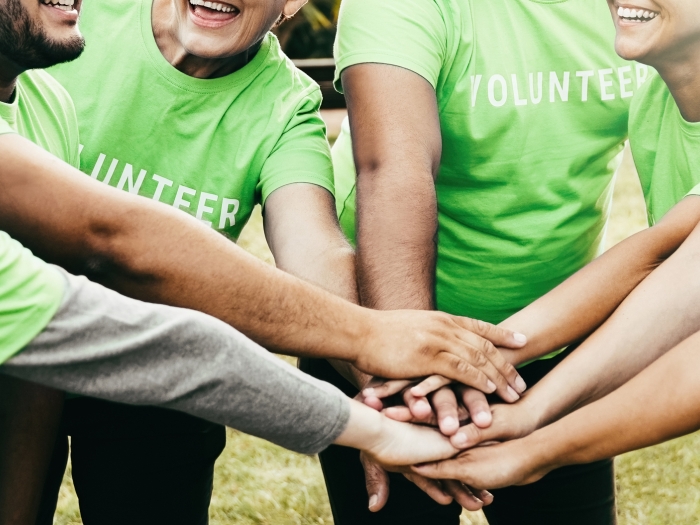
[[[434,308],[442,138],[432,86],[382,64],[342,74],[357,169],[357,258],[362,303]]]

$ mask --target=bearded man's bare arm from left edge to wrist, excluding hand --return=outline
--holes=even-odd
[[[180,211],[98,184],[24,139],[0,137],[0,158],[0,228],[45,260],[138,299],[206,312],[271,350],[353,358],[368,324],[361,308],[270,268]]]

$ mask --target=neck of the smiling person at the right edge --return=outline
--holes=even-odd
[[[688,122],[700,122],[700,50],[654,67],[666,82],[683,118]]]

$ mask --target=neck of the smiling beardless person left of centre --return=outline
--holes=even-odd
[[[153,36],[163,57],[175,69],[194,78],[220,78],[230,75],[250,62],[262,42],[244,52],[224,58],[202,58],[189,53],[177,38],[177,20],[172,4],[167,0],[154,0],[152,16]]]

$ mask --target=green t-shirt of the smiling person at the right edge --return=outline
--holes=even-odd
[[[700,184],[700,122],[683,118],[658,73],[632,100],[630,147],[652,225]]]

